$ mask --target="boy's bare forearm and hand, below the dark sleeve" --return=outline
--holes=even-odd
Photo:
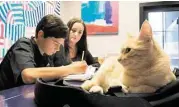
[[[30,84],[34,83],[37,78],[50,80],[64,77],[69,74],[84,73],[86,68],[86,62],[82,61],[61,67],[26,68],[21,72],[21,76],[25,84]]]

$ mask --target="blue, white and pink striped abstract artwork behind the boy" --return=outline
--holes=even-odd
[[[21,37],[34,36],[35,27],[46,14],[60,15],[58,1],[0,2],[0,62],[9,47]]]

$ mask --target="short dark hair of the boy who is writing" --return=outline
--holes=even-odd
[[[66,38],[68,35],[68,27],[57,16],[49,14],[44,16],[36,27],[35,37],[37,38],[38,32],[42,30],[44,32],[44,38]]]

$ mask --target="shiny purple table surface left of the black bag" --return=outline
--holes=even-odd
[[[34,102],[34,85],[0,91],[0,107],[37,107]]]

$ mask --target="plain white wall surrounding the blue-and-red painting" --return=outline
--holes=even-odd
[[[130,32],[137,35],[139,32],[139,3],[140,1],[119,2],[119,35],[88,36],[88,47],[93,56],[107,53],[117,53]],[[81,2],[62,1],[61,18],[67,22],[72,17],[81,17]]]

